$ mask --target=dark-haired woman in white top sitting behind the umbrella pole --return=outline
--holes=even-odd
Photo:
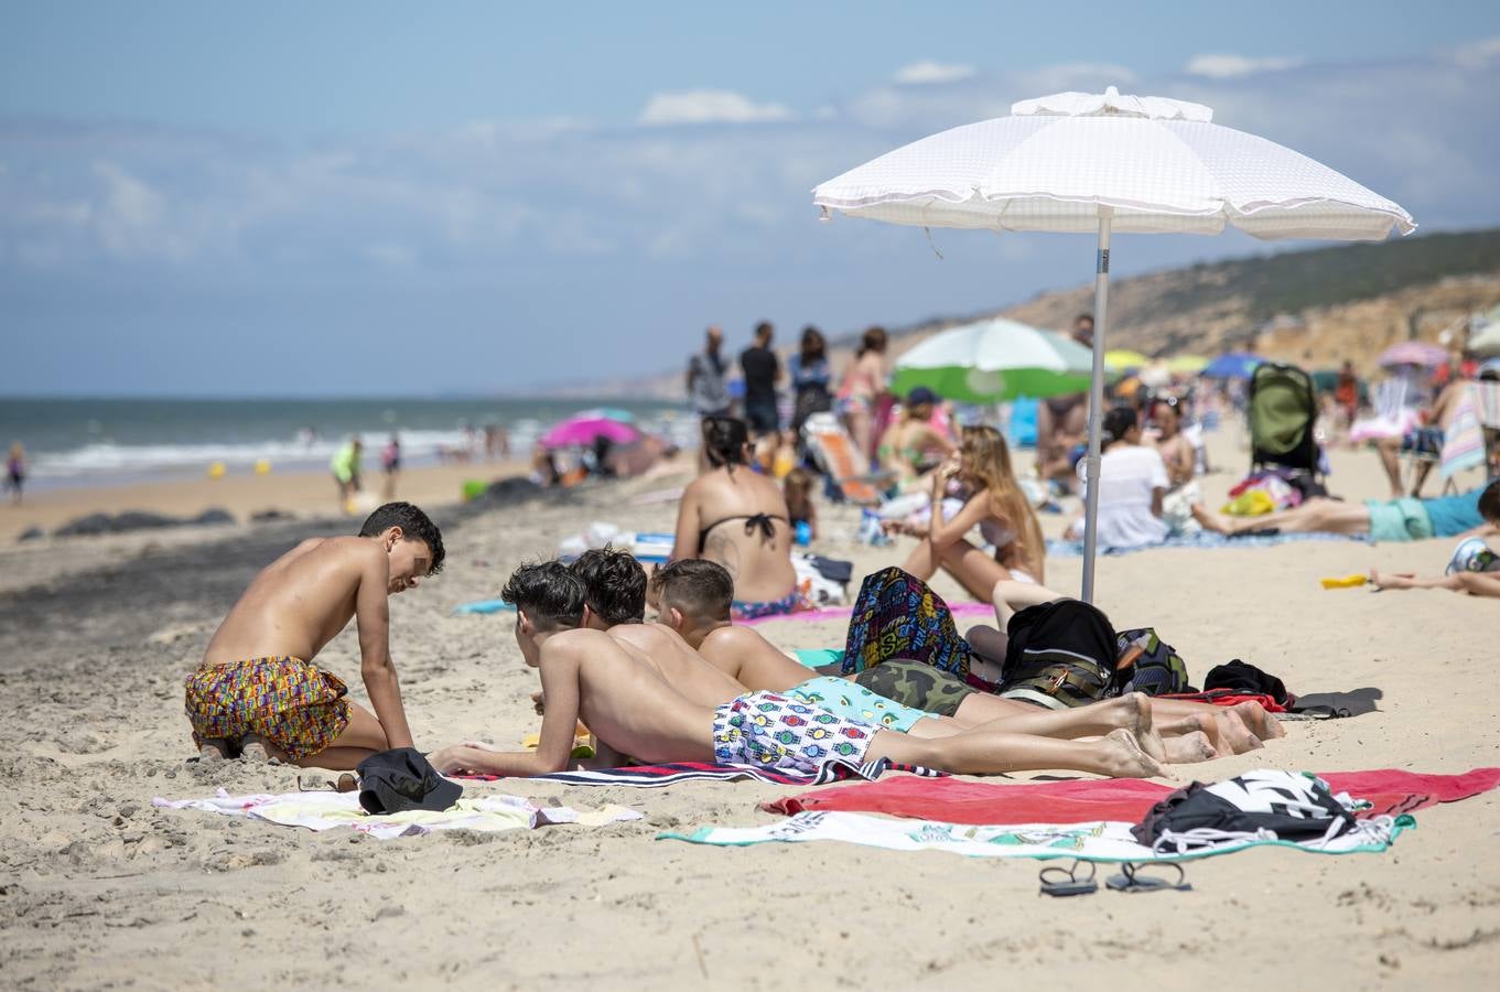
[[[1154,447],[1140,443],[1140,423],[1130,407],[1104,414],[1104,456],[1100,459],[1100,546],[1140,548],[1167,539],[1161,501],[1172,488],[1167,465]],[[1084,474],[1078,462],[1078,477]],[[1088,480],[1084,480],[1084,486]],[[1083,519],[1072,524],[1083,536]]]

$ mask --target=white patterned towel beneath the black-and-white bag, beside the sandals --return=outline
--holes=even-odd
[[[969,857],[1080,858],[1086,861],[1188,861],[1245,848],[1298,848],[1314,854],[1377,854],[1416,821],[1412,816],[1360,819],[1356,828],[1332,840],[1234,839],[1178,852],[1156,852],[1138,843],[1126,821],[1080,824],[1036,822],[968,825],[933,819],[890,819],[868,813],[796,813],[764,827],[704,827],[692,833],[658,833],[657,840],[686,840],[741,848],[753,843],[808,843],[840,840],[890,851],[946,851]]]

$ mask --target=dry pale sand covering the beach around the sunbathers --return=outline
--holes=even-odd
[[[1222,464],[1244,467],[1230,438]],[[1336,488],[1380,495],[1374,456],[1338,453]],[[1222,492],[1230,474],[1206,480]],[[640,483],[633,483],[640,488]],[[651,483],[666,485],[666,483]],[[668,528],[672,507],[627,489],[444,516],[446,573],[392,605],[393,651],[418,746],[537,726],[512,620],[453,617],[507,570],[590,519]],[[826,530],[848,530],[830,512]],[[1047,518],[1056,531],[1059,518]],[[280,524],[104,545],[48,542],[75,567],[36,572],[0,551],[0,974],[9,987],[399,986],[1116,989],[1496,987],[1500,795],[1418,813],[1380,855],[1260,849],[1188,867],[1194,891],[1038,897],[1038,863],[843,845],[744,849],[654,840],[664,828],[768,822],[756,804],[796,789],[687,783],[666,791],[506,782],[573,806],[624,803],[645,819],[380,842],[152,807],[152,797],[288,791],[296,771],[198,767],[182,678],[254,572],[306,533]],[[1152,551],[1100,563],[1101,605],[1150,623],[1194,675],[1244,657],[1298,692],[1378,687],[1378,713],[1292,723],[1268,749],[1179,768],[1464,771],[1497,762],[1500,603],[1444,591],[1323,591],[1371,566],[1440,570],[1452,542],[1296,543]],[[144,551],[144,554],[142,554]],[[898,561],[836,536],[856,575]],[[94,567],[84,567],[94,555]],[[30,563],[30,564],[28,564]],[[82,564],[80,564],[82,563]],[[22,576],[16,576],[21,572]],[[1077,560],[1050,563],[1076,587]],[[24,587],[24,588],[15,588]],[[942,593],[957,593],[940,579]],[[784,647],[840,644],[837,623],[782,621]],[[352,629],[320,659],[358,689]],[[1024,777],[1024,776],[1023,776]]]

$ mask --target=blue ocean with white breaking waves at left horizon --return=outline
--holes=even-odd
[[[120,485],[202,476],[213,462],[231,473],[266,459],[276,471],[326,471],[351,435],[366,464],[380,464],[392,434],[406,465],[483,444],[484,425],[510,434],[514,459],[530,459],[550,425],[596,404],[564,399],[0,399],[0,449],[26,446],[28,488]],[[686,405],[609,401],[636,426],[696,446]]]

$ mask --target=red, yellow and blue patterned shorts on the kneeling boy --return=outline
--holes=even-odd
[[[348,686],[300,657],[202,665],[186,689],[198,746],[255,734],[300,761],[326,750],[350,725]]]

